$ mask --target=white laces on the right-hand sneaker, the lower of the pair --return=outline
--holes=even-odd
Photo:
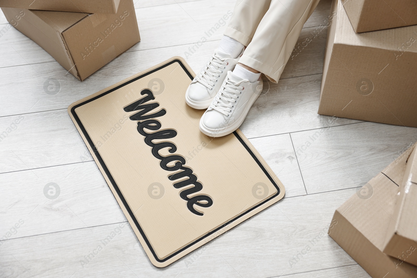
[[[234,83],[230,81],[229,74],[224,80],[219,93],[214,98],[213,103],[210,105],[210,108],[219,111],[220,113],[224,114],[226,117],[229,117],[229,113],[232,112],[234,105],[237,103],[237,99],[239,99],[239,95],[242,94],[242,90],[245,87],[236,86]]]

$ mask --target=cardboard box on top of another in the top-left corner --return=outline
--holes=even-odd
[[[75,13],[117,13],[120,0],[0,0],[2,8]]]

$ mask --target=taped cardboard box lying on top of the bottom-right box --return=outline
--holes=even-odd
[[[384,252],[417,265],[417,148],[407,160]]]

